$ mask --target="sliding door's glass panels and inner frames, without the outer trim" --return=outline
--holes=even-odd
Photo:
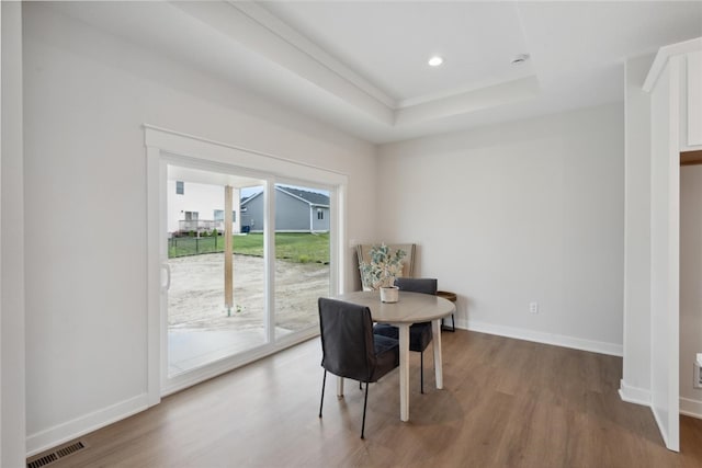
[[[333,187],[176,157],[161,185],[167,392],[318,333]]]

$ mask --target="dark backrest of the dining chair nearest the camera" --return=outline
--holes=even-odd
[[[371,309],[320,297],[321,366],[331,374],[367,381],[376,365]]]

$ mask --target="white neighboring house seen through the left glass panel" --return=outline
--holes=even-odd
[[[231,231],[239,232],[239,191],[234,189]],[[168,232],[224,232],[224,186],[168,181]]]

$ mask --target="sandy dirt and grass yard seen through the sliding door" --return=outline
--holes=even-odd
[[[263,327],[263,235],[234,236],[233,242],[236,305],[228,315],[222,236],[169,240],[170,329]],[[329,294],[329,233],[278,232],[275,246],[276,328],[285,333],[316,326],[317,298]]]

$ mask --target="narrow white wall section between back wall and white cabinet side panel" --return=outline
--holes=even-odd
[[[650,95],[654,55],[625,64],[624,359],[621,395],[650,400]]]

